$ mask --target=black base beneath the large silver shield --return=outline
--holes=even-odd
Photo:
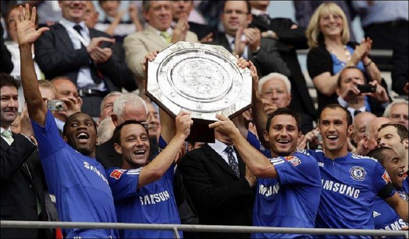
[[[187,142],[201,142],[201,143],[214,143],[214,129],[209,128],[209,124],[212,123],[208,120],[193,120],[194,123],[190,128],[190,135],[186,138]]]

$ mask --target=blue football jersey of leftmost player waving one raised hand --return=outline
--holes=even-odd
[[[95,158],[66,144],[50,111],[44,127],[31,121],[49,192],[63,222],[117,222],[105,170]],[[66,238],[118,237],[113,229],[62,229]]]

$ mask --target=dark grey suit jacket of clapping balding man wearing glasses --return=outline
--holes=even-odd
[[[220,45],[230,52],[233,51],[224,33],[218,33],[214,37],[214,40],[212,42],[209,42],[209,44]],[[267,75],[270,72],[279,72],[286,76],[290,75],[287,64],[283,61],[277,50],[276,40],[262,38],[260,43],[260,50],[257,54],[252,54],[249,47],[247,47],[247,50],[247,60],[251,60],[255,64],[257,73],[260,77]]]

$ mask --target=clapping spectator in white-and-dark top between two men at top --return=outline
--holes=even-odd
[[[121,1],[98,1],[98,3],[104,11],[105,19],[97,23],[95,29],[113,36],[117,42],[123,42],[127,35],[143,30],[139,21],[137,5],[129,5],[128,14],[131,20],[124,21],[122,18],[127,12],[119,10]]]

